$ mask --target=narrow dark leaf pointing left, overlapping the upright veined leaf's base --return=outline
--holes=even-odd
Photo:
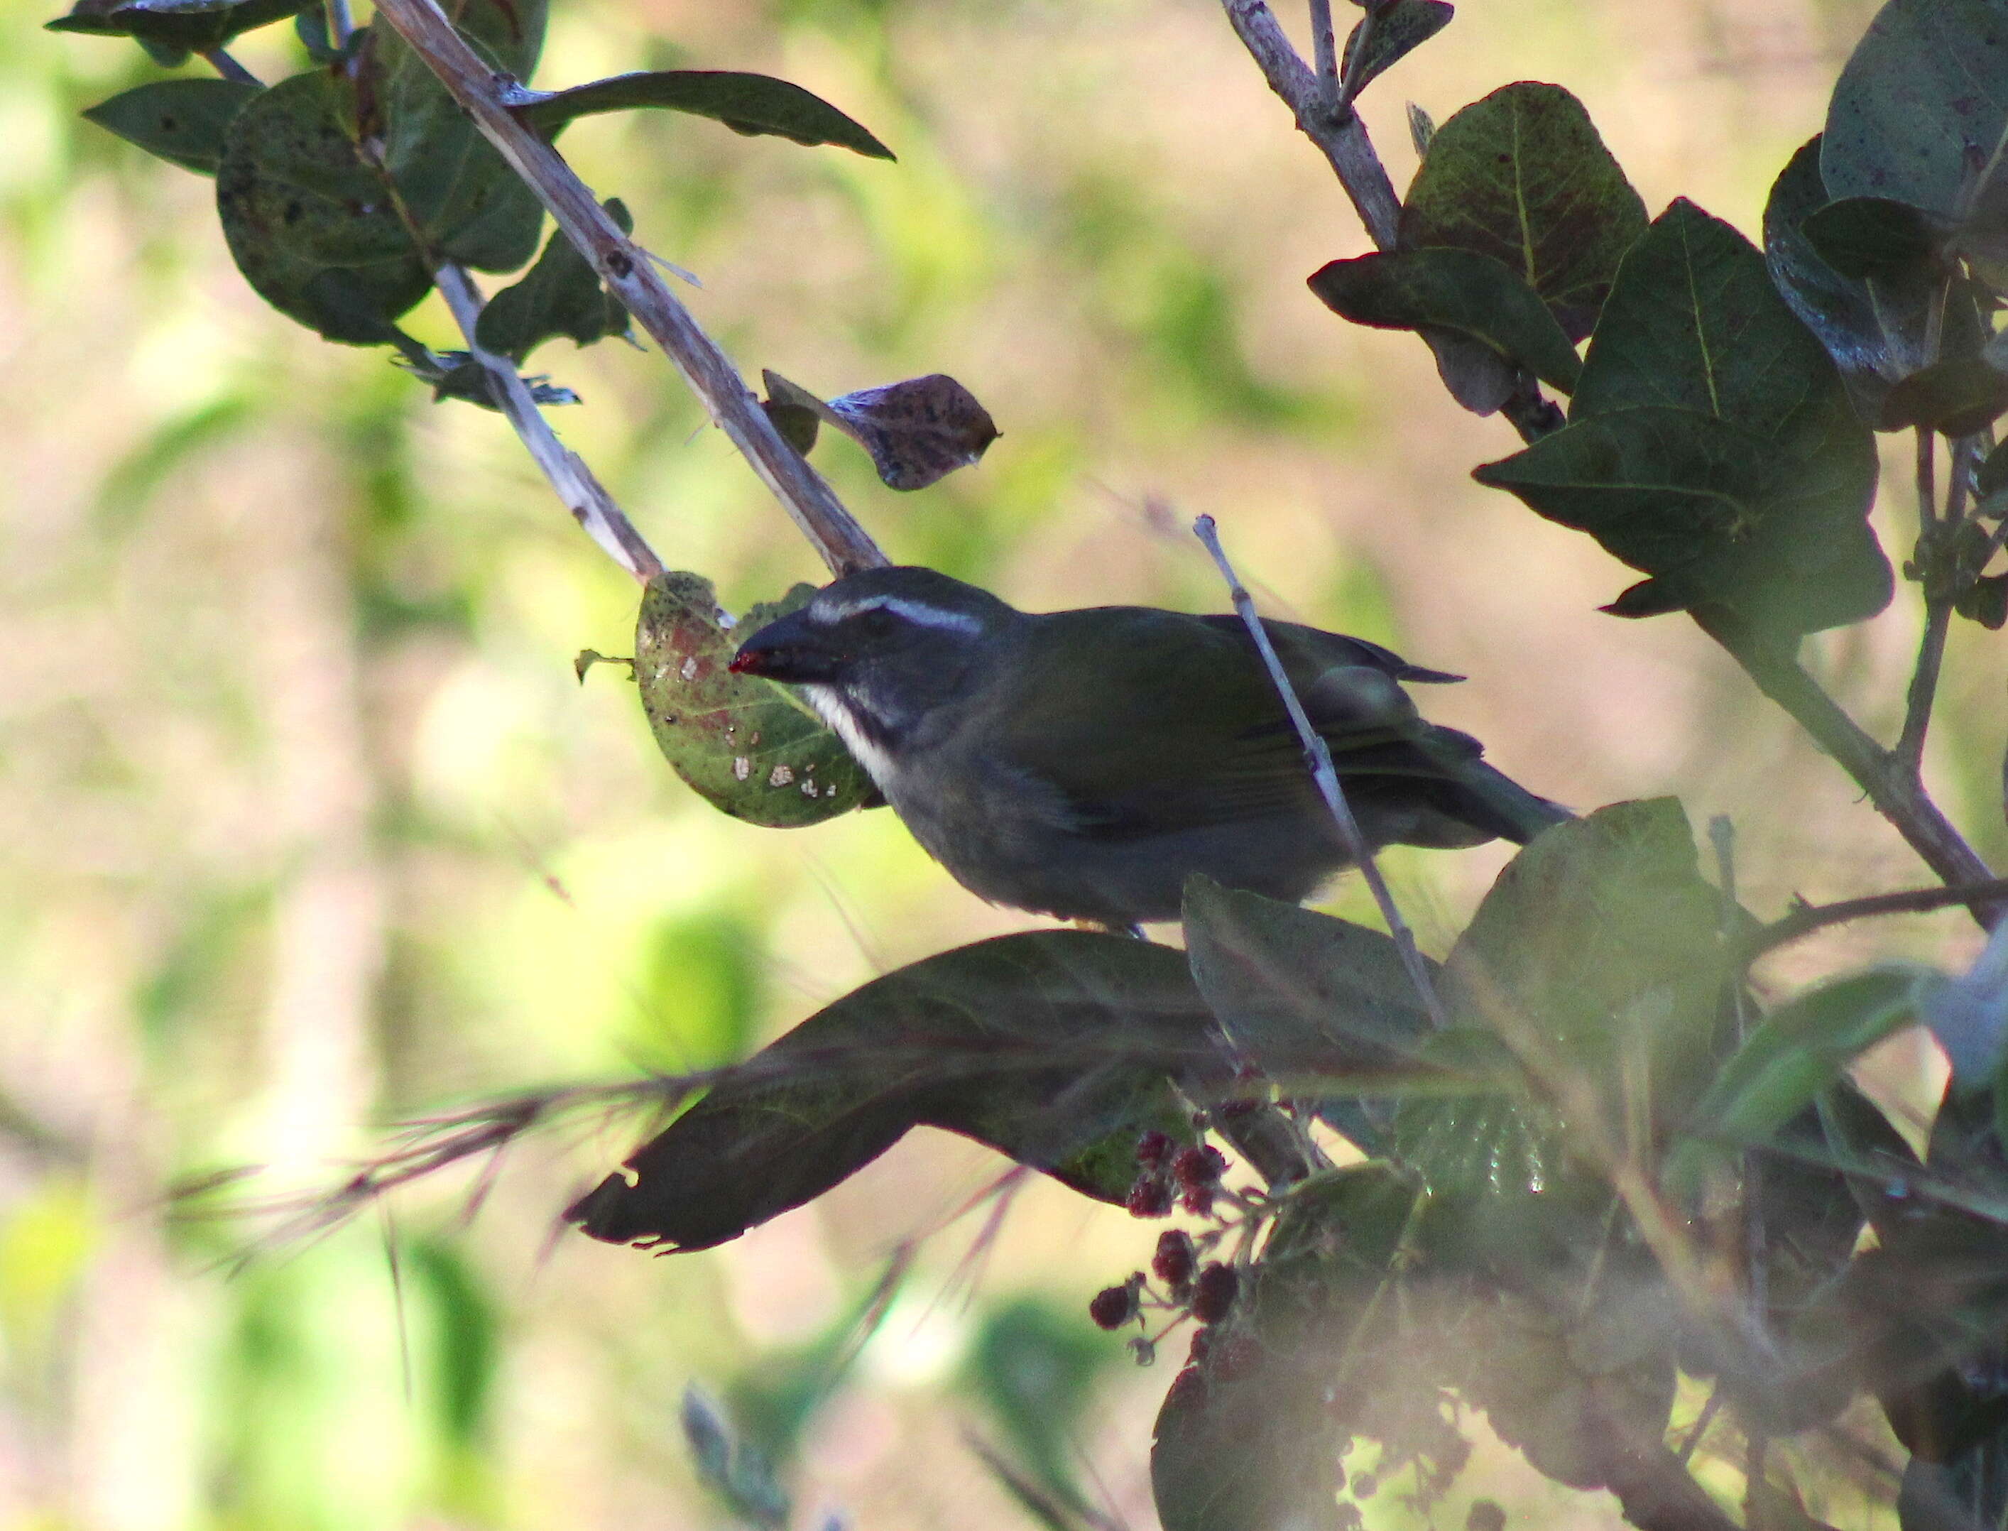
[[[1582,370],[1540,295],[1490,255],[1468,249],[1359,255],[1319,267],[1311,291],[1353,323],[1468,336],[1564,394]]]

